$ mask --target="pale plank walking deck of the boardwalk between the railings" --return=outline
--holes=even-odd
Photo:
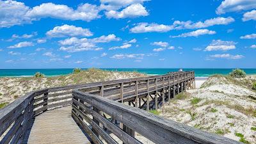
[[[71,116],[71,106],[36,116],[28,143],[90,143]]]

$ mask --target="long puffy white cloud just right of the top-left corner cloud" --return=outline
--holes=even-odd
[[[43,3],[29,10],[26,16],[33,20],[52,17],[54,19],[90,21],[99,18],[99,12],[100,10],[96,5],[88,3],[79,5],[77,10],[63,4]]]

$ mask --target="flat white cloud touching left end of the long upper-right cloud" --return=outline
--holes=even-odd
[[[130,29],[132,33],[150,33],[150,32],[159,32],[164,33],[173,29],[173,26],[168,26],[164,24],[148,24],[147,22],[141,22],[136,24],[133,28]]]

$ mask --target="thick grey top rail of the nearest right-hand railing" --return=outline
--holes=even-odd
[[[92,104],[104,113],[145,136],[154,143],[240,143],[223,136],[200,131],[142,109],[133,108],[113,100],[74,90],[74,97]]]

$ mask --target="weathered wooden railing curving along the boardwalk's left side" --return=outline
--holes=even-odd
[[[152,78],[155,77],[158,76],[152,76]],[[144,79],[144,77],[137,79]],[[121,81],[125,83],[131,80],[123,79]],[[102,84],[113,84],[117,81],[120,80],[45,88],[16,99],[5,108],[0,109],[0,143],[22,143],[26,130],[35,116],[47,110],[72,104],[74,88],[93,90]]]

